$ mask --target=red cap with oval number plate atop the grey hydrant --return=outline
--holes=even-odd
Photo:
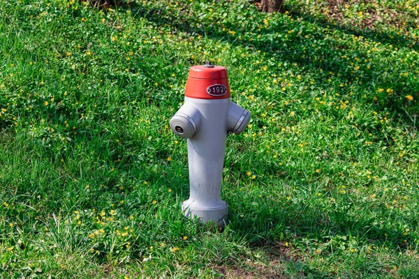
[[[211,65],[193,66],[189,69],[185,96],[197,99],[230,98],[230,87],[226,68]]]

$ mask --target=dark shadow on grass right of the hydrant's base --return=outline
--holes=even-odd
[[[230,206],[230,226],[254,246],[309,239],[312,243],[304,247],[311,246],[314,252],[320,248],[315,245],[318,241],[324,245],[323,252],[330,254],[341,247],[349,250],[351,241],[359,240],[371,246],[385,245],[396,252],[418,245],[410,234],[382,225],[387,216],[386,209],[380,206],[358,212],[352,209],[355,204],[335,204],[332,208],[314,200],[278,201],[269,197],[255,200],[250,196],[231,198],[229,203],[235,206]]]

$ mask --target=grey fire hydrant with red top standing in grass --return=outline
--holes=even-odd
[[[203,223],[223,227],[228,204],[221,200],[226,137],[242,133],[250,112],[230,100],[227,70],[221,66],[193,66],[186,82],[184,105],[170,119],[170,128],[187,139],[189,199],[182,211]]]

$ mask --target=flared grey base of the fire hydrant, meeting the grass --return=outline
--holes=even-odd
[[[218,227],[224,227],[226,221],[228,220],[228,204],[226,206],[219,207],[216,209],[195,209],[191,206],[191,202],[186,200],[182,202],[182,211],[184,215],[188,218],[196,218],[202,223],[208,223],[211,221],[214,225]]]

